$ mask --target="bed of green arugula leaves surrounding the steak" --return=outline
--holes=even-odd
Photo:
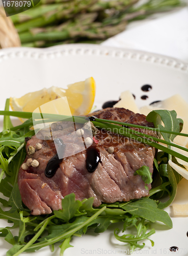
[[[82,236],[88,229],[94,232],[104,232],[111,223],[122,223],[122,230],[126,234],[120,235],[120,230],[114,230],[114,236],[117,240],[130,246],[133,251],[136,248],[143,248],[145,239],[155,233],[154,228],[150,229],[151,222],[163,222],[169,228],[172,228],[172,221],[164,208],[169,206],[175,198],[177,183],[182,176],[179,175],[169,164],[172,160],[178,164],[175,157],[186,162],[188,159],[175,151],[171,150],[174,146],[173,139],[180,135],[183,121],[176,118],[175,111],[152,111],[147,116],[147,120],[154,123],[155,131],[158,132],[158,138],[147,138],[147,135],[137,133],[127,126],[117,125],[118,122],[110,120],[97,119],[93,124],[99,128],[111,129],[117,126],[118,129],[124,129],[124,136],[140,139],[141,142],[150,144],[158,148],[156,159],[154,159],[154,174],[147,166],[140,168],[136,175],[141,175],[146,186],[152,182],[152,188],[149,191],[150,196],[139,200],[129,202],[116,202],[113,204],[102,203],[99,207],[93,207],[93,198],[75,201],[75,195],[70,194],[62,199],[62,210],[53,211],[50,215],[31,216],[30,210],[23,205],[19,188],[17,184],[18,170],[25,159],[25,137],[34,135],[32,113],[12,112],[9,110],[9,99],[6,101],[5,111],[0,111],[4,115],[3,131],[0,133],[0,192],[8,198],[0,198],[0,218],[12,223],[11,227],[0,228],[0,237],[3,237],[12,245],[7,252],[7,256],[17,256],[22,252],[34,252],[42,247],[50,245],[54,250],[54,245],[58,243],[61,248],[60,255],[66,248],[71,247],[72,236]],[[10,116],[28,118],[21,125],[13,127]],[[53,116],[56,118],[56,116]],[[80,117],[79,117],[80,118]],[[78,119],[79,119],[78,118]],[[59,116],[58,116],[59,119]],[[161,124],[163,121],[164,126]],[[119,123],[123,124],[123,123]],[[142,127],[137,125],[137,127]],[[152,129],[145,127],[145,129]],[[122,133],[121,133],[122,135]],[[187,134],[181,134],[188,136]],[[157,142],[163,142],[168,146],[163,146]],[[182,149],[181,146],[177,146]],[[184,150],[186,150],[184,148]],[[187,150],[186,150],[187,151]],[[160,202],[159,199],[166,197],[166,202]],[[8,210],[5,210],[7,209]],[[135,228],[136,235],[127,234],[130,227]],[[13,236],[12,229],[19,228],[17,236]],[[150,240],[150,239],[149,239]],[[154,245],[152,240],[151,245]]]

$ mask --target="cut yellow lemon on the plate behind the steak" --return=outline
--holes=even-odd
[[[90,113],[95,99],[95,80],[93,77],[85,81],[69,84],[68,89],[50,87],[31,92],[20,98],[11,97],[10,106],[13,111],[33,112],[39,106],[58,98],[67,97],[72,115],[87,115]],[[23,120],[22,120],[23,121]]]

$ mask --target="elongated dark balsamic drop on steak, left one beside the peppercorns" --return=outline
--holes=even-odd
[[[62,139],[55,139],[54,142],[58,144],[58,152],[48,161],[46,165],[44,174],[47,178],[52,178],[56,174],[57,169],[60,167],[60,163],[63,161],[63,155],[65,152],[65,144],[63,143]],[[62,158],[59,159],[59,156]]]

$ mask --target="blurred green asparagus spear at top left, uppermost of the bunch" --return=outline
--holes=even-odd
[[[76,14],[86,10],[91,5],[95,4],[97,0],[74,0],[73,2],[66,3],[59,7],[59,10],[53,10],[45,13],[44,15],[28,20],[27,22],[15,26],[18,32],[24,32],[31,28],[38,28],[54,24],[58,20],[65,19],[70,14]]]

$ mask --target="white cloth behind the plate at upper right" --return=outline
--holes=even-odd
[[[109,38],[104,46],[137,49],[188,61],[188,7],[147,19]]]

